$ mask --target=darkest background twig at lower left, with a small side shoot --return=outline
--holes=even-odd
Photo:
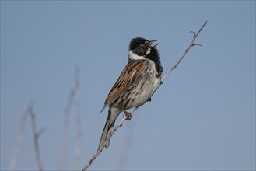
[[[29,107],[29,113],[31,117],[31,124],[32,124],[32,129],[33,129],[33,142],[36,150],[36,159],[37,159],[37,166],[40,171],[44,170],[43,169],[43,164],[40,160],[40,151],[39,151],[39,144],[38,144],[38,138],[40,134],[37,132],[37,124],[36,124],[36,116],[35,113],[33,113],[32,106]]]

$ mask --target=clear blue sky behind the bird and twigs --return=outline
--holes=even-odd
[[[94,155],[104,100],[129,40],[158,40],[164,71],[208,20],[181,65],[117,130],[90,169],[255,169],[255,1],[1,1],[1,169],[30,102],[44,169],[59,169],[64,109],[80,68],[82,161],[72,107],[65,169]],[[121,116],[117,119],[121,120]],[[27,120],[16,169],[37,169]]]

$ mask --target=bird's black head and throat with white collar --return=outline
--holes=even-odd
[[[161,75],[163,68],[156,49],[158,44],[153,44],[154,42],[156,40],[146,40],[142,37],[132,39],[129,46],[129,61],[147,58],[155,63],[156,70]]]

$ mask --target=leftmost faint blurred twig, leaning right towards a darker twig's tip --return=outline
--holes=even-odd
[[[26,120],[27,120],[28,116],[29,116],[29,113],[28,113],[28,110],[26,109],[26,111],[23,113],[23,116],[20,119],[19,133],[17,135],[16,145],[13,148],[11,159],[9,162],[9,170],[16,169],[16,161],[17,161],[17,157],[19,155],[21,143],[23,141],[23,134],[24,134],[24,129],[25,129]]]

